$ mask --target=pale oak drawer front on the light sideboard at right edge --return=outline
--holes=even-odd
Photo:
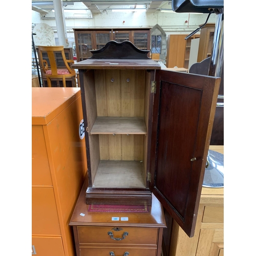
[[[223,206],[205,206],[203,220],[204,223],[224,223]]]

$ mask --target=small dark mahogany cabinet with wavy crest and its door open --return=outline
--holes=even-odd
[[[153,193],[193,236],[220,78],[160,70],[130,41],[92,53],[73,65],[87,131],[87,204],[151,205]]]

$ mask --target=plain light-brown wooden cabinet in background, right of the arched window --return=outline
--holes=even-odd
[[[199,38],[200,35],[193,35],[187,40],[187,35],[168,35],[167,39],[167,68],[185,68],[188,69],[191,40]]]

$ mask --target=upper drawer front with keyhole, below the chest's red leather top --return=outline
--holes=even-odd
[[[158,228],[122,227],[119,231],[112,228],[114,227],[77,227],[79,243],[157,244]],[[108,234],[110,231],[113,239]],[[125,232],[128,233],[126,236],[123,235]],[[116,238],[122,240],[114,240]]]

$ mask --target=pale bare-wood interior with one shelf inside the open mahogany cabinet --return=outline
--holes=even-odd
[[[145,188],[150,73],[84,72],[92,187]]]

